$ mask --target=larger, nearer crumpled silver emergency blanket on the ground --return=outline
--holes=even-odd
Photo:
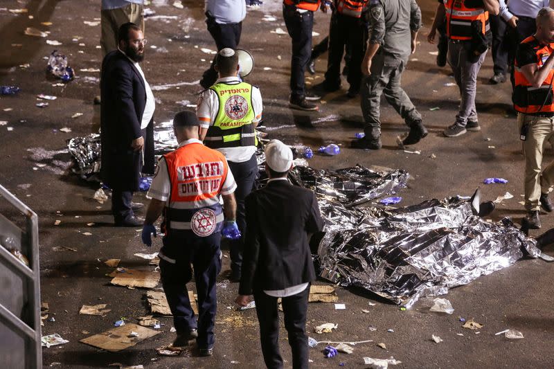
[[[433,199],[392,211],[371,208],[364,222],[352,228],[347,217],[333,223],[337,225],[327,227],[319,244],[319,275],[406,307],[421,296],[446,294],[449,288],[508,267],[525,255],[541,254],[535,240],[508,219],[485,222],[459,199]]]

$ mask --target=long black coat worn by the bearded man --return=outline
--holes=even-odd
[[[141,131],[146,90],[141,73],[120,51],[102,61],[100,80],[100,139],[102,180],[118,190],[139,190],[141,172],[154,174],[154,119]],[[131,147],[143,136],[143,154]]]

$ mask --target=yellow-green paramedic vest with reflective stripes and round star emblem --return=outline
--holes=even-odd
[[[257,146],[252,120],[252,85],[246,82],[214,84],[211,88],[220,101],[217,116],[204,138],[212,149],[222,147]]]

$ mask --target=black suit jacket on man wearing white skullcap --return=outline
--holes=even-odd
[[[246,199],[247,233],[239,294],[285,289],[315,279],[308,233],[323,220],[314,192],[271,181]]]

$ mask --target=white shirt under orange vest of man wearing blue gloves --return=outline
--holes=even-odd
[[[190,140],[182,141],[181,143],[179,143],[179,147],[183,147],[185,145],[188,145],[189,143],[202,143],[202,141],[191,138]],[[235,177],[233,177],[233,173],[231,173],[231,170],[228,170],[227,177],[225,178],[220,194],[229,195],[235,192],[236,188],[237,183],[235,183]],[[154,174],[152,185],[150,185],[150,190],[148,190],[148,194],[146,195],[146,197],[148,197],[148,199],[166,201],[166,204],[169,206],[169,199],[171,197],[170,192],[171,181],[168,173],[168,165],[166,163],[166,159],[162,156],[162,158],[158,161],[156,174]],[[205,206],[205,204],[197,204],[197,206],[195,207],[200,208],[202,206]]]

